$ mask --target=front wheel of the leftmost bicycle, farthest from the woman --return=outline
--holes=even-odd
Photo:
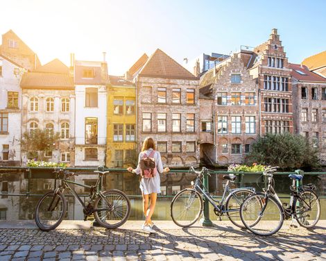
[[[54,191],[42,196],[36,205],[35,223],[43,231],[50,231],[60,225],[67,212],[67,201],[65,196]]]

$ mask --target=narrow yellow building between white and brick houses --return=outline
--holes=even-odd
[[[107,131],[106,166],[135,165],[136,87],[123,77],[110,76]]]

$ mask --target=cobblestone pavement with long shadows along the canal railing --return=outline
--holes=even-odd
[[[3,228],[0,260],[326,260],[323,224],[314,230],[284,227],[271,237],[257,237],[230,222],[212,228],[155,228],[151,235],[134,228],[49,233]]]

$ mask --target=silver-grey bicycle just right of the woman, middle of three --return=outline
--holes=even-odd
[[[194,172],[197,177],[195,181],[191,181],[192,188],[181,190],[173,197],[170,206],[170,214],[173,222],[181,227],[189,227],[195,224],[203,213],[204,197],[205,200],[213,205],[214,213],[220,220],[221,216],[226,213],[235,226],[244,228],[239,216],[240,205],[247,196],[255,192],[255,189],[252,187],[230,189],[230,182],[234,183],[237,177],[232,174],[224,175],[223,179],[227,180],[225,190],[221,201],[216,201],[207,192],[207,188],[200,180],[203,175],[207,174],[210,176],[208,169],[203,167],[201,171],[196,171],[194,167],[190,167],[189,171]],[[227,193],[228,196],[225,198]]]

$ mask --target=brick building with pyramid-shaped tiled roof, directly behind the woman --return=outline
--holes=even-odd
[[[137,74],[137,149],[157,141],[165,165],[199,162],[199,79],[160,49]]]

